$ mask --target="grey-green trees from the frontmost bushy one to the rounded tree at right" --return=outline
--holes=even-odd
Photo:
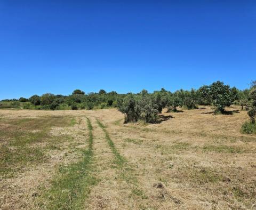
[[[239,99],[237,88],[230,88],[222,82],[215,82],[210,86],[202,86],[198,90],[176,91],[171,93],[162,88],[149,94],[143,90],[139,94],[127,94],[119,99],[118,110],[125,114],[125,122],[137,122],[142,120],[146,123],[155,123],[163,108],[168,111],[178,111],[177,107],[196,109],[198,105],[212,104],[215,114],[223,114],[225,107]]]

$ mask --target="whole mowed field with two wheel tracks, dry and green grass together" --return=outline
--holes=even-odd
[[[149,125],[116,109],[0,110],[0,209],[255,209],[240,109],[164,110]]]

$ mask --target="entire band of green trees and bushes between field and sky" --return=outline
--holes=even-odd
[[[118,94],[115,91],[85,94],[82,90],[75,90],[72,94],[54,95],[45,93],[41,96],[33,95],[29,99],[2,100],[25,109],[45,110],[77,110],[77,109],[105,109],[115,107],[125,115],[125,122],[156,123],[163,108],[169,112],[177,112],[177,107],[185,109],[197,109],[199,105],[211,105],[214,114],[225,114],[225,107],[231,104],[239,104],[242,109],[248,111],[250,122],[244,126],[248,130],[255,125],[256,115],[256,82],[252,82],[249,89],[239,91],[236,87],[230,87],[217,81],[211,85],[204,85],[198,90],[166,91],[164,88],[154,93],[142,90],[140,93]],[[21,106],[21,105],[20,105]],[[1,108],[1,106],[0,106]],[[252,130],[252,128],[250,128]]]

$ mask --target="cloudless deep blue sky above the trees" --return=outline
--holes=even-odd
[[[256,1],[0,0],[0,99],[256,79]]]

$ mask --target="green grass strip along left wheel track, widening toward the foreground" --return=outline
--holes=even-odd
[[[50,190],[42,196],[39,205],[46,209],[82,209],[91,185],[97,180],[91,174],[93,159],[93,127],[87,118],[89,147],[82,149],[83,159],[78,163],[59,168],[59,175]]]

